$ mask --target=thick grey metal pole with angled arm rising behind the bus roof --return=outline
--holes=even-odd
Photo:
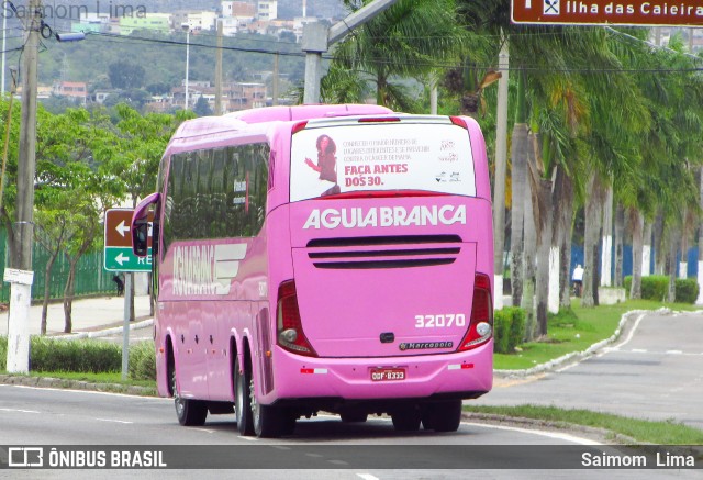
[[[375,0],[348,15],[332,27],[320,22],[306,23],[303,27],[302,49],[305,52],[305,92],[303,103],[320,102],[320,80],[322,77],[322,54],[330,45],[341,41],[357,26],[390,8],[398,0]]]

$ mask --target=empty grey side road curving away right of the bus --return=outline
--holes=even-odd
[[[503,381],[480,405],[556,405],[703,428],[703,315],[651,312],[622,342],[532,381]]]

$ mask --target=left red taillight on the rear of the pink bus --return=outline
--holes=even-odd
[[[298,293],[293,280],[278,288],[278,309],[276,314],[276,342],[293,354],[316,357],[317,354],[308,342],[298,309]]]

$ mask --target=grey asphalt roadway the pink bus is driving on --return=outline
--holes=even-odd
[[[2,445],[58,446],[62,449],[123,446],[166,449],[180,446],[181,458],[168,459],[175,470],[171,478],[221,478],[222,470],[187,470],[230,466],[234,461],[267,470],[238,471],[245,477],[280,479],[386,480],[395,478],[514,478],[514,470],[495,470],[511,466],[533,466],[521,470],[521,478],[544,478],[536,470],[554,465],[555,457],[582,455],[592,440],[565,433],[526,431],[462,423],[457,433],[398,433],[386,418],[364,424],[344,424],[337,417],[321,415],[299,421],[295,434],[281,439],[241,437],[233,415],[211,416],[202,427],[181,427],[176,421],[170,400],[129,395],[0,386],[0,425]],[[126,446],[126,447],[125,447]],[[203,449],[199,447],[205,446]],[[1,454],[1,453],[0,453]],[[238,457],[237,457],[238,455]],[[46,457],[46,455],[44,455]],[[204,458],[203,458],[204,457]],[[231,457],[231,458],[227,458]],[[565,459],[565,461],[567,461]],[[174,465],[175,462],[175,465]],[[290,462],[290,465],[288,465]],[[476,464],[473,464],[476,462]],[[368,464],[368,466],[367,466]],[[471,469],[472,465],[490,465],[491,470]],[[571,465],[571,464],[569,464]],[[410,467],[409,467],[410,466]],[[282,468],[284,467],[284,468]],[[334,470],[334,473],[332,473]],[[8,473],[0,470],[0,477]],[[11,478],[36,478],[38,472],[14,470]],[[161,478],[165,472],[148,470],[70,471],[42,470],[43,478]],[[487,475],[482,475],[487,473]],[[488,475],[490,473],[490,475]],[[522,475],[525,473],[525,475]],[[555,478],[572,476],[569,470],[549,470]],[[601,478],[602,471],[583,471],[581,478]],[[614,471],[610,477],[641,478],[640,470]],[[668,471],[647,470],[647,478],[667,478]],[[679,478],[696,478],[693,470],[679,472]],[[8,477],[9,478],[9,477]]]

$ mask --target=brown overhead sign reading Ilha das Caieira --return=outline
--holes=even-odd
[[[701,0],[512,0],[513,23],[703,26]]]

